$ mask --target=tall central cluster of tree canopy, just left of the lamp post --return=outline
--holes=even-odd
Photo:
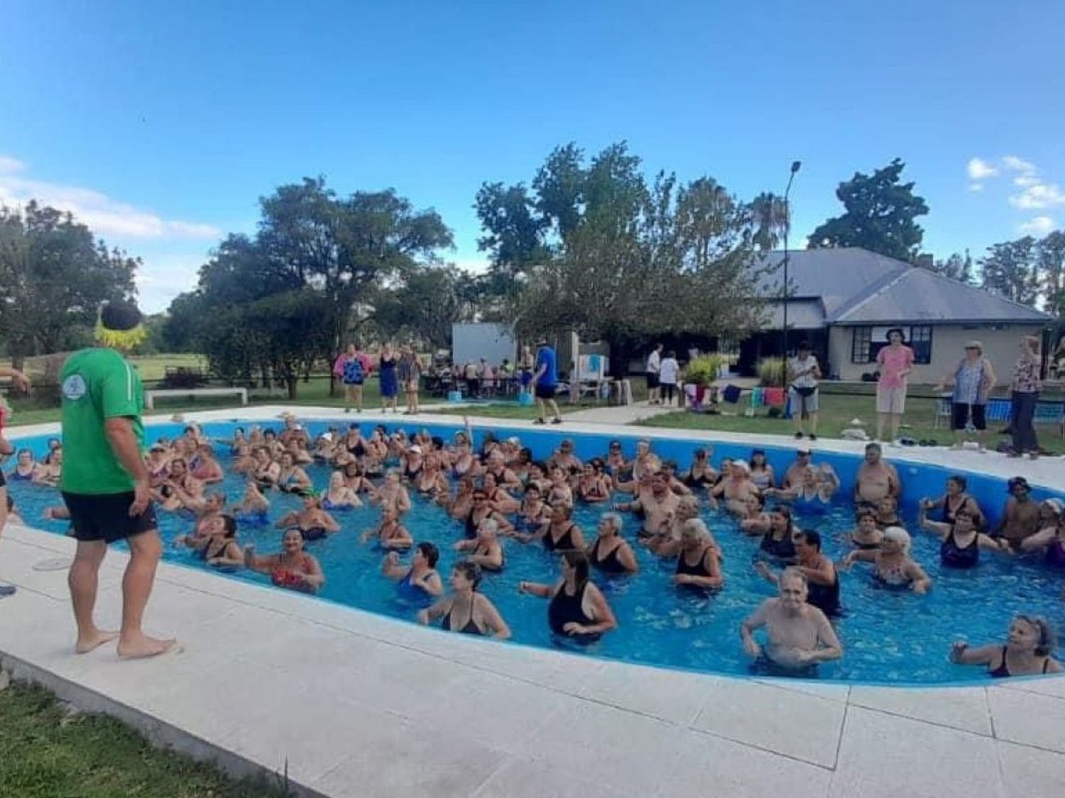
[[[518,210],[501,213],[506,202]],[[482,249],[510,276],[520,332],[619,340],[742,334],[761,320],[752,207],[709,177],[660,172],[649,184],[625,143],[591,157],[558,147],[531,193],[486,183],[475,207]]]

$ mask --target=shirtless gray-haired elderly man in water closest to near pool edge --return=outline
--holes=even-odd
[[[743,650],[750,656],[765,658],[785,670],[803,671],[812,665],[843,655],[824,613],[806,603],[806,577],[797,568],[787,568],[777,581],[779,598],[766,599],[740,627]],[[754,630],[766,628],[768,643],[760,646]]]

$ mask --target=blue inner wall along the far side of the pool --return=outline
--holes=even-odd
[[[313,439],[315,436],[327,431],[330,427],[337,427],[344,430],[349,423],[351,423],[350,417],[339,417],[337,419],[305,421],[304,426],[307,429],[308,434]],[[360,427],[362,428],[364,434],[368,434],[374,427],[377,426],[377,421],[365,421],[360,423]],[[430,435],[439,435],[447,442],[450,442],[454,438],[456,432],[464,429],[459,423],[410,423],[402,421],[397,422],[395,420],[383,423],[390,432],[403,429],[408,434],[413,434],[420,430],[427,430]],[[283,428],[283,423],[280,420],[232,419],[229,421],[207,422],[201,425],[201,429],[212,438],[224,439],[232,436],[234,428],[244,427],[245,429],[250,429],[253,425],[258,425],[264,430],[274,429],[280,431]],[[173,438],[182,434],[185,425],[174,422],[150,425],[146,427],[145,431],[146,443],[153,443],[160,437]],[[18,438],[17,431],[13,430],[12,432],[14,433],[12,435],[12,439],[15,442],[16,447],[19,449],[31,449],[34,456],[38,459],[44,456],[45,452],[48,450],[48,440],[59,436],[58,434],[51,434]],[[545,430],[539,430],[524,427],[513,428],[499,425],[475,428],[474,436],[478,447],[480,446],[481,440],[484,440],[485,435],[489,432],[494,434],[496,438],[505,438],[511,435],[517,435],[521,438],[523,446],[532,450],[535,460],[544,460],[551,456],[552,452],[558,448],[559,444],[563,439],[570,439],[573,442],[574,453],[581,460],[588,460],[593,456],[604,456],[611,440],[620,440],[625,458],[632,459],[636,454],[637,443],[648,437],[645,434],[641,433],[626,435],[571,433],[564,429],[548,428]],[[710,460],[711,463],[718,467],[720,466],[721,461],[725,458],[750,460],[751,451],[753,449],[760,448],[766,451],[766,458],[773,466],[777,481],[783,477],[784,472],[791,465],[791,463],[794,462],[796,451],[798,448],[798,445],[793,447],[773,446],[756,443],[754,440],[749,444],[738,444],[731,442],[700,440],[694,438],[683,439],[653,436],[650,439],[652,450],[660,459],[676,461],[678,473],[683,473],[687,470],[697,449],[711,447],[714,452]],[[814,449],[815,464],[829,463],[839,476],[840,489],[837,494],[837,503],[850,501],[854,494],[854,477],[857,472],[858,465],[862,462],[862,454],[819,451],[816,446],[812,448]],[[921,498],[925,496],[941,496],[946,489],[947,478],[951,475],[958,473],[966,478],[968,482],[968,493],[980,503],[980,506],[986,514],[988,521],[992,525],[998,521],[1007,498],[1006,481],[1003,478],[964,469],[944,468],[941,466],[927,463],[907,462],[902,459],[904,456],[904,449],[896,451],[887,449],[884,452],[884,456],[889,462],[892,462],[898,468],[903,488],[900,505],[901,510],[906,515],[913,515],[916,513],[917,503]],[[972,456],[979,455],[973,453]],[[986,456],[990,458],[996,455],[987,454]],[[1042,501],[1043,499],[1051,497],[1065,500],[1065,493],[1052,491],[1039,485],[1033,485],[1032,498],[1034,500]]]

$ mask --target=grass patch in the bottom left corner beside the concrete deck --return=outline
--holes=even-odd
[[[68,714],[49,692],[0,693],[0,795],[11,798],[282,798],[279,781],[234,781],[152,747],[104,715]]]

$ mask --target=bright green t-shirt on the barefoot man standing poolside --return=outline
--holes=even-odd
[[[104,431],[109,418],[126,416],[144,445],[141,376],[114,349],[82,349],[60,372],[63,390],[63,472],[60,489],[72,494],[121,494],[133,478],[115,456]]]

